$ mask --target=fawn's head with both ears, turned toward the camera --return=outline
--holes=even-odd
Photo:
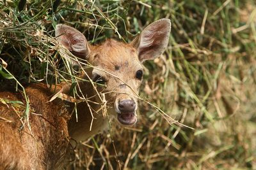
[[[108,39],[92,46],[81,32],[67,25],[56,26],[56,37],[61,45],[93,66],[91,79],[97,90],[106,94],[108,113],[123,125],[137,121],[138,90],[143,78],[142,63],[159,57],[168,45],[171,22],[161,19],[148,25],[131,43]],[[71,59],[73,66],[79,66]],[[92,89],[93,90],[93,89]]]

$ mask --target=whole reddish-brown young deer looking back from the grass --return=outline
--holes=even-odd
[[[162,18],[148,25],[131,43],[107,39],[90,45],[84,35],[65,24],[56,25],[59,45],[93,67],[85,70],[79,81],[79,94],[90,101],[74,103],[60,98],[50,101],[54,92],[46,83],[31,83],[25,88],[29,99],[29,126],[20,121],[21,92],[0,92],[0,169],[58,169],[70,149],[70,139],[85,141],[108,129],[109,118],[100,109],[104,92],[108,117],[118,124],[131,126],[138,120],[138,95],[143,79],[143,62],[156,59],[168,46],[171,22]],[[67,57],[67,56],[65,56]],[[81,64],[70,59],[74,67]],[[69,83],[56,85],[68,94]],[[88,104],[90,102],[90,104]],[[18,106],[17,106],[18,105]],[[92,121],[93,118],[93,121]]]

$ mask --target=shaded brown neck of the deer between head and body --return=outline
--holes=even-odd
[[[89,76],[90,74],[91,72],[88,72]],[[86,79],[86,77],[83,78]],[[83,96],[88,99],[88,102],[77,103],[76,106],[73,104],[70,107],[70,111],[73,113],[71,120],[68,122],[68,132],[72,139],[84,141],[94,134],[108,129],[109,119],[102,115],[92,83],[83,81],[79,83],[79,87]],[[74,111],[75,107],[76,111]]]

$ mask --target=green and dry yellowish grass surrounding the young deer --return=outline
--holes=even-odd
[[[84,142],[74,167],[255,169],[255,6],[252,0],[1,1],[0,87],[76,80],[56,52],[56,24],[72,25],[95,44],[129,42],[145,25],[170,18],[170,45],[145,64],[140,97],[150,103],[140,102],[138,124],[114,123]],[[155,106],[195,130],[170,125]]]

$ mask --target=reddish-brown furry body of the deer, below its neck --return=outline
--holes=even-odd
[[[5,118],[0,119],[0,169],[54,169],[60,166],[69,143],[68,111],[59,100],[47,103],[51,92],[46,85],[31,85],[26,93],[31,131],[20,121],[23,107],[0,103],[0,116]],[[25,103],[19,92],[0,92],[0,96]]]

